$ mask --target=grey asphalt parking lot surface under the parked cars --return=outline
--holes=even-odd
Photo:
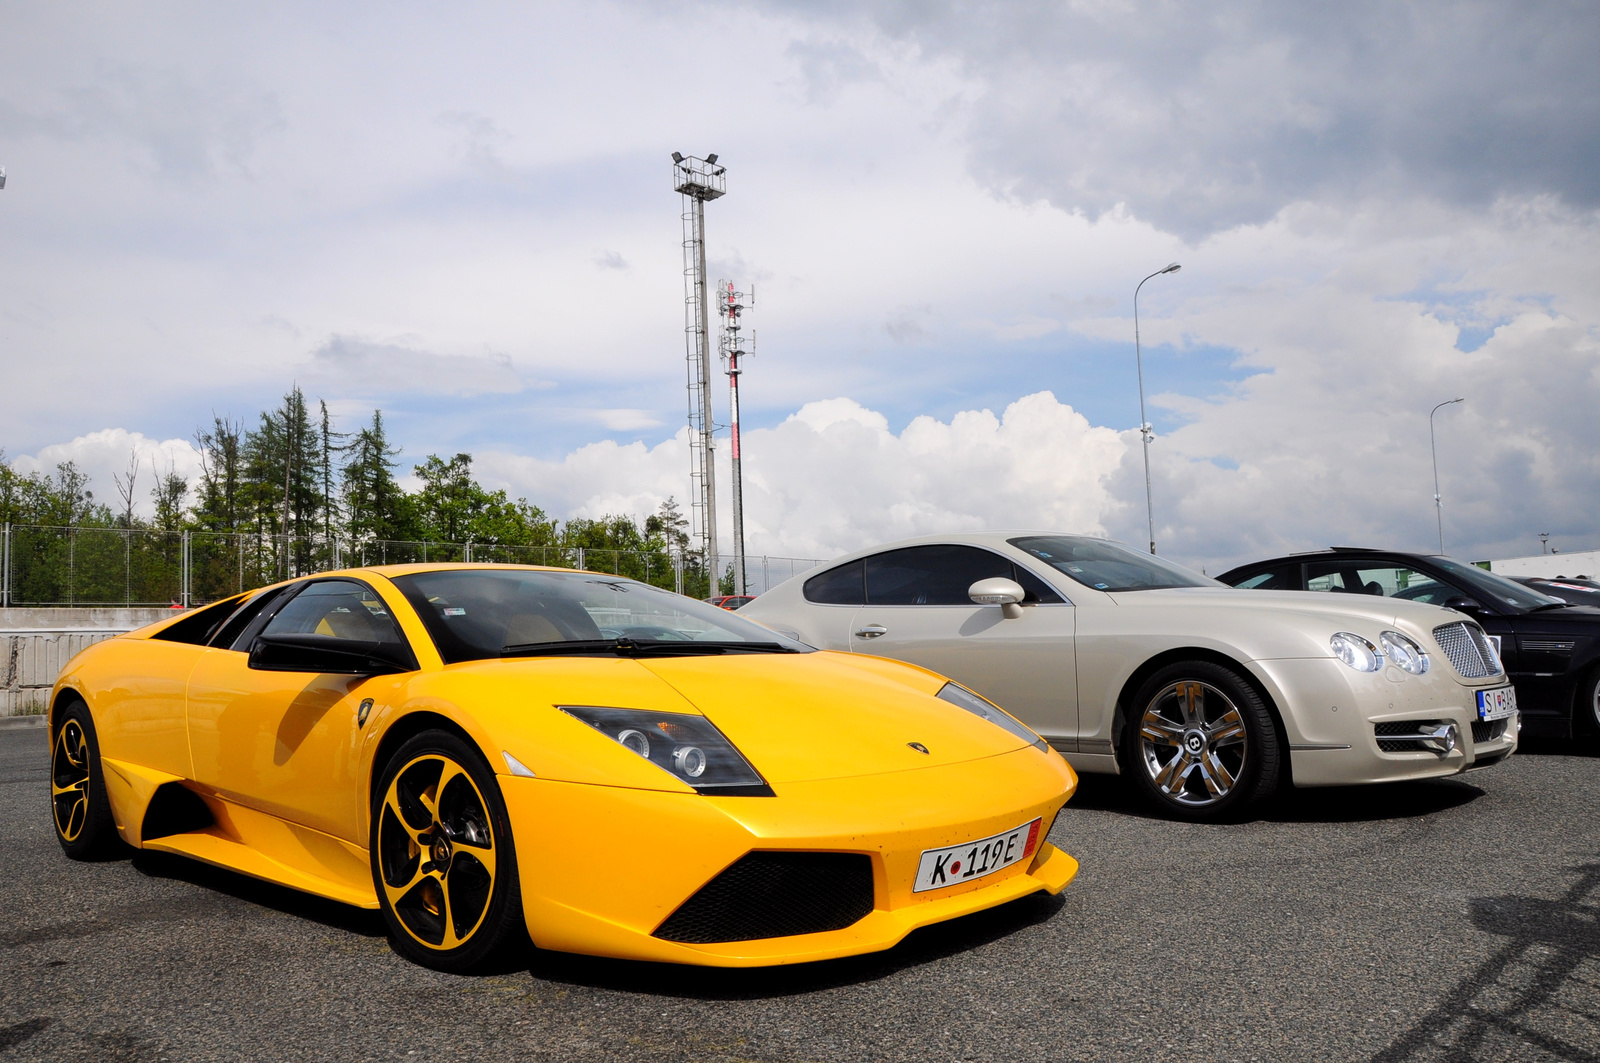
[[[1091,776],[1059,898],[806,967],[472,978],[397,957],[376,913],[67,861],[46,752],[0,732],[0,1061],[1600,1060],[1600,757],[1566,744],[1229,826]]]

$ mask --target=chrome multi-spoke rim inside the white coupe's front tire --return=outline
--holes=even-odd
[[[1139,757],[1150,781],[1171,800],[1216,804],[1234,792],[1250,759],[1245,717],[1210,684],[1168,684],[1144,706]]]

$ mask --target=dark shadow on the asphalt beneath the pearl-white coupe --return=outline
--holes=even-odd
[[[1459,808],[1483,796],[1483,789],[1461,778],[1435,778],[1376,786],[1317,786],[1282,789],[1242,818],[1229,823],[1366,823],[1408,820]],[[1083,775],[1067,810],[1114,812],[1141,820],[1168,820],[1150,808],[1126,780],[1115,775]]]

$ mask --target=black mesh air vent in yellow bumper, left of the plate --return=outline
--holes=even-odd
[[[872,911],[864,853],[747,853],[656,927],[685,945],[843,930]]]

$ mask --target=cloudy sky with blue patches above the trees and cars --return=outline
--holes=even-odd
[[[1600,546],[1589,3],[0,3],[0,447],[293,383],[557,515],[688,491],[672,150],[755,287],[749,540]],[[718,418],[726,403],[718,389]],[[720,456],[726,456],[726,447]]]

